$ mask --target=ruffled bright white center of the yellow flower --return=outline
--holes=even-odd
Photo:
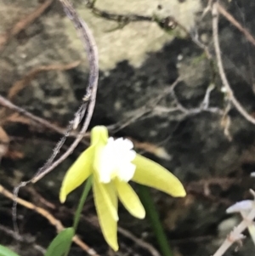
[[[129,139],[109,138],[101,152],[99,161],[99,181],[109,183],[111,179],[118,178],[128,182],[133,178],[135,157],[133,143]]]

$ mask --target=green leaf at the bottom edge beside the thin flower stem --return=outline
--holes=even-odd
[[[75,230],[73,228],[62,230],[59,235],[54,238],[53,242],[50,243],[44,256],[63,256],[71,246],[71,239],[74,235]],[[10,254],[9,256],[12,255]]]

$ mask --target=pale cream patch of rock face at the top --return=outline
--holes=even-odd
[[[161,5],[162,9],[157,9]],[[180,24],[191,30],[195,26],[195,14],[201,10],[200,0],[98,0],[96,7],[116,14],[141,14],[159,17],[173,16]],[[117,23],[93,17],[94,14],[84,4],[76,6],[82,18],[88,22],[99,48],[99,65],[103,71],[110,70],[117,62],[129,60],[134,67],[142,65],[149,52],[156,52],[173,40],[154,22],[133,22],[122,29],[111,31]],[[81,51],[82,44],[77,38],[71,21],[65,18],[65,26],[70,31],[72,47]]]

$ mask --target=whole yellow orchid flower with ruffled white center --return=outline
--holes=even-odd
[[[129,139],[109,138],[104,126],[91,131],[91,145],[77,158],[65,174],[60,202],[93,175],[95,208],[105,241],[115,250],[117,243],[118,198],[134,217],[144,219],[145,210],[128,181],[133,180],[166,192],[185,196],[184,186],[166,168],[133,151]]]

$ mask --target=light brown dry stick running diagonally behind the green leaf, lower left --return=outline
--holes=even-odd
[[[59,221],[59,219],[54,218],[54,216],[51,213],[48,213],[48,211],[46,211],[43,208],[39,208],[37,206],[35,206],[34,204],[32,204],[31,202],[27,202],[26,200],[23,200],[19,197],[15,197],[11,192],[9,192],[8,190],[6,190],[3,185],[0,185],[0,193],[3,194],[3,196],[8,197],[11,200],[15,200],[16,202],[18,202],[20,205],[23,205],[26,208],[29,208],[37,213],[39,213],[40,215],[42,215],[43,218],[48,219],[48,222],[51,225],[54,225],[54,227],[56,228],[57,232],[59,233],[61,230],[65,229],[65,226],[62,225],[62,223]],[[99,256],[99,254],[97,254],[93,248],[88,247],[88,245],[84,242],[82,242],[82,240],[78,237],[78,236],[74,236],[72,239],[73,242],[75,242],[79,247],[82,248],[82,250],[84,250],[85,252],[87,252],[89,255],[94,255],[94,256]]]

